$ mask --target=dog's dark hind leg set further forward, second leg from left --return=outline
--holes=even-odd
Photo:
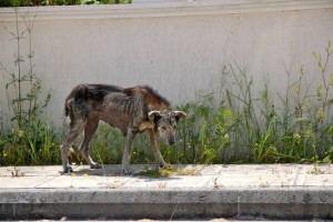
[[[100,163],[94,162],[89,155],[89,143],[92,139],[93,133],[98,129],[99,119],[94,115],[91,115],[85,123],[84,128],[84,139],[80,145],[80,150],[82,152],[83,158],[88,162],[91,169],[100,169],[102,165]]]

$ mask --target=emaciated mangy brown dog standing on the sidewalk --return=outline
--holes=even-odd
[[[72,172],[68,152],[71,143],[84,131],[80,150],[92,169],[101,168],[89,155],[89,143],[102,120],[118,128],[127,137],[122,158],[122,172],[129,174],[132,142],[137,133],[147,131],[151,140],[157,163],[167,164],[160,152],[157,134],[169,145],[174,144],[175,127],[186,115],[172,111],[170,102],[150,87],[121,88],[110,84],[79,84],[67,97],[65,115],[70,117],[70,131],[61,145],[63,173]]]

